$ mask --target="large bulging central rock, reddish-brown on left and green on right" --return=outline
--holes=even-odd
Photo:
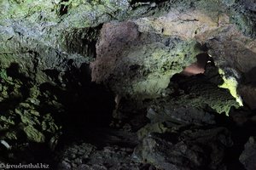
[[[202,49],[195,41],[140,32],[137,27],[131,21],[102,27],[96,61],[90,65],[92,81],[110,85],[121,96],[154,98]]]

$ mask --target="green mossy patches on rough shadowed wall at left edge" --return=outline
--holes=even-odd
[[[18,134],[24,132],[27,141],[42,143],[46,137],[59,133],[61,127],[55,124],[51,113],[42,113],[38,86],[26,82],[21,72],[15,76],[9,77],[5,69],[0,71],[0,131],[4,132],[0,138],[20,143],[24,137]]]

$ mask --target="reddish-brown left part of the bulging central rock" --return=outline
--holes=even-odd
[[[138,35],[137,26],[130,21],[104,24],[100,40],[96,44],[97,59],[90,64],[92,81],[106,80],[121,57],[122,50],[137,41]]]

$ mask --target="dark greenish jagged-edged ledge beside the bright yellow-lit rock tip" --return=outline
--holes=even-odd
[[[155,101],[153,108],[157,113],[168,116],[168,111],[171,111],[174,115],[179,115],[179,111],[184,111],[182,108],[196,108],[199,111],[214,111],[228,115],[232,106],[239,107],[228,89],[218,88],[216,84],[208,82],[206,77],[178,78],[178,82],[169,85],[169,88],[177,88],[174,91],[171,89],[166,93],[166,97]],[[178,88],[179,83],[182,84],[181,88]]]

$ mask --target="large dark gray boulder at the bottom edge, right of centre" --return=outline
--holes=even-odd
[[[224,169],[224,150],[231,145],[224,127],[182,127],[173,132],[171,128],[169,133],[149,133],[133,157],[166,170]]]

